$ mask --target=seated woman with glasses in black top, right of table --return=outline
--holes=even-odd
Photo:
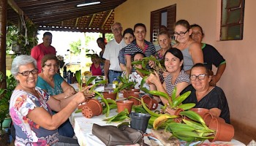
[[[204,64],[195,64],[191,69],[190,80],[192,85],[189,85],[184,91],[191,91],[186,103],[195,103],[196,108],[206,108],[214,116],[223,118],[226,123],[230,123],[230,111],[227,104],[225,93],[217,86],[211,86],[210,71]]]

